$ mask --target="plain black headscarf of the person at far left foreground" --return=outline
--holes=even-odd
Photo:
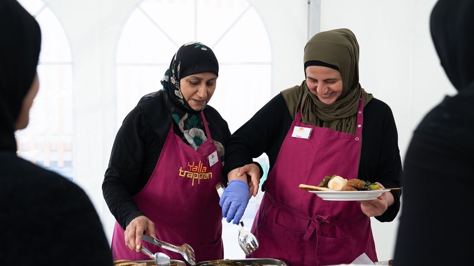
[[[0,1],[0,150],[16,152],[15,122],[36,74],[41,30],[15,0]]]

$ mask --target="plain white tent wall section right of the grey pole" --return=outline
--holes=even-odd
[[[456,92],[431,40],[429,18],[435,3],[321,0],[321,31],[349,28],[356,34],[361,85],[391,107],[402,160],[423,116]],[[379,260],[393,258],[399,217],[390,223],[372,218]]]

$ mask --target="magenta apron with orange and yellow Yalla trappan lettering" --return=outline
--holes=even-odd
[[[201,116],[208,140],[195,151],[173,133],[171,124],[150,180],[133,197],[140,210],[155,223],[157,238],[176,246],[188,243],[194,249],[197,262],[221,259],[224,255],[222,209],[215,188],[223,180],[222,162],[203,112]],[[124,232],[115,222],[111,244],[113,259],[150,260],[143,252],[125,245]],[[180,253],[145,241],[142,245],[153,253],[163,252],[171,259],[184,260]]]

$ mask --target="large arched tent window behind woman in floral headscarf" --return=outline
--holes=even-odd
[[[202,42],[219,61],[209,105],[238,129],[271,97],[272,49],[256,9],[246,0],[144,0],[123,27],[116,53],[117,129],[138,100],[161,89],[177,49]],[[238,103],[247,108],[238,110]]]

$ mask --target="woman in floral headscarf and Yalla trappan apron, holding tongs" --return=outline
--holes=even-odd
[[[230,137],[227,122],[208,105],[219,65],[210,47],[187,43],[171,59],[162,90],[144,96],[118,130],[102,184],[116,219],[114,259],[143,260],[142,232],[192,246],[196,261],[223,258],[222,214],[215,185]]]

